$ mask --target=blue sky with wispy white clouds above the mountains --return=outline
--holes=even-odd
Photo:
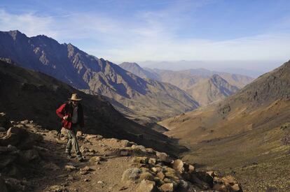
[[[0,1],[0,30],[110,61],[286,61],[288,0]]]

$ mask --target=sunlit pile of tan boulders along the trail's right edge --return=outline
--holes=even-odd
[[[242,191],[234,177],[196,171],[191,164],[140,145],[124,147],[122,154],[134,156],[135,168],[125,170],[121,180],[139,184],[138,191]]]

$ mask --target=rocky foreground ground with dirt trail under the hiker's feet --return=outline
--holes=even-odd
[[[33,121],[0,117],[1,191],[242,191],[232,176],[101,135],[78,134],[85,158],[78,162],[64,154],[64,130],[58,138]]]

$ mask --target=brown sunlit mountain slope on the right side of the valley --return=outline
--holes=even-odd
[[[223,101],[160,124],[191,148],[184,160],[233,171],[246,191],[289,191],[289,74],[290,61]]]

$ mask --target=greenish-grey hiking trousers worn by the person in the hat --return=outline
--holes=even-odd
[[[66,129],[67,131],[67,138],[69,139],[67,141],[67,148],[65,149],[65,152],[67,154],[71,154],[71,148],[74,147],[74,151],[76,152],[76,156],[82,157],[82,154],[80,152],[80,149],[78,147],[78,139],[76,138],[76,127],[77,126],[71,126],[71,129]]]

